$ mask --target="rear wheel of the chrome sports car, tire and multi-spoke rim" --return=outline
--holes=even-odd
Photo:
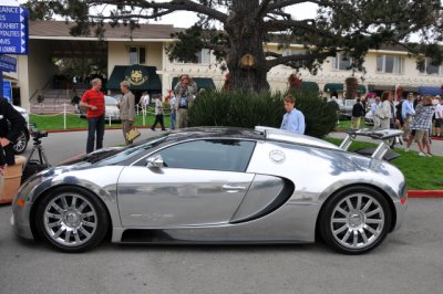
[[[388,200],[372,188],[356,186],[339,191],[327,201],[321,210],[319,231],[332,249],[346,254],[362,254],[380,245],[391,222]]]

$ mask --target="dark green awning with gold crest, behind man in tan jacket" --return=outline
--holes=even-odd
[[[162,82],[156,73],[155,66],[144,65],[115,65],[110,80],[107,90],[119,90],[122,81],[131,83],[131,90],[162,91]]]

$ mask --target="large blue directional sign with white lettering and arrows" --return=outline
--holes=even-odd
[[[28,54],[29,11],[0,6],[0,53]]]

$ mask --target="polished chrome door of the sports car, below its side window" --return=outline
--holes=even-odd
[[[124,227],[174,228],[228,223],[254,174],[126,167],[119,179]]]

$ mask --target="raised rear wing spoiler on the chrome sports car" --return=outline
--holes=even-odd
[[[348,136],[344,138],[344,140],[340,145],[340,149],[348,150],[349,147],[351,146],[352,141],[358,137],[358,136],[363,136],[363,137],[370,137],[372,139],[379,139],[381,140],[379,146],[373,149],[371,154],[371,158],[373,159],[385,159],[384,156],[390,151],[390,146],[392,140],[395,139],[395,137],[399,137],[403,134],[402,130],[399,129],[379,129],[379,130],[372,130],[372,129],[351,129],[348,133]],[[388,159],[389,160],[389,159]]]

